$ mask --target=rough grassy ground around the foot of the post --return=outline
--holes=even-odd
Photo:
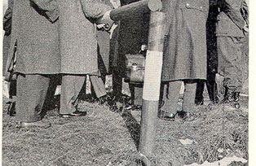
[[[246,101],[244,102],[246,103]],[[140,111],[80,103],[85,117],[48,111],[49,129],[16,129],[3,104],[2,165],[136,165]],[[236,155],[248,159],[248,108],[198,107],[196,120],[157,121],[157,165],[179,166]],[[187,141],[186,141],[187,140]],[[187,143],[183,143],[183,141]]]

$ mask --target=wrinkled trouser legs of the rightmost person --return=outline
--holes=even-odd
[[[223,76],[224,100],[240,107],[242,83],[242,46],[244,37],[217,37],[218,73]]]

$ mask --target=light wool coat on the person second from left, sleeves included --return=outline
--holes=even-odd
[[[97,73],[97,41],[94,23],[112,7],[93,0],[33,0],[33,2],[41,10],[41,15],[48,20],[47,24],[58,23],[57,31],[52,33],[58,37],[55,50],[60,51],[60,61],[56,65],[59,67],[59,72]],[[50,45],[51,42],[48,44]],[[51,48],[48,47],[47,50],[51,51]]]

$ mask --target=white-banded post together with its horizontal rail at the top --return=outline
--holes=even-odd
[[[110,12],[110,18],[114,21],[130,19],[134,15],[147,12],[150,14],[139,139],[139,153],[143,156],[143,162],[147,166],[151,165],[149,158],[153,156],[155,146],[161,85],[165,19],[165,14],[160,12],[161,8],[161,0],[142,0],[119,7]]]

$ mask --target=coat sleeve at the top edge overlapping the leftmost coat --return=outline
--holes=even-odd
[[[55,22],[55,20],[59,17],[58,4],[56,0],[30,0],[35,3],[38,8],[45,12],[47,17],[51,20],[51,22]]]

